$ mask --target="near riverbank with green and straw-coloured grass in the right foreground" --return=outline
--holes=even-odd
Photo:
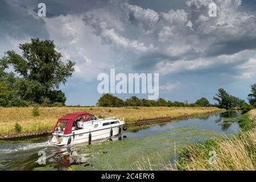
[[[177,169],[256,170],[256,109],[244,114],[238,123],[241,132],[234,137],[209,139],[185,147],[176,162]]]

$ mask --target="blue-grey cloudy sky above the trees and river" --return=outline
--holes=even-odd
[[[46,17],[38,4],[46,4]],[[217,16],[208,14],[209,3]],[[256,78],[256,1],[0,0],[0,57],[51,39],[76,62],[66,105],[96,105],[100,73],[159,73],[159,97],[211,103],[219,88],[246,100]],[[122,99],[133,95],[114,94]]]

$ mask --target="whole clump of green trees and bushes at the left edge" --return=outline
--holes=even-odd
[[[21,56],[7,51],[0,59],[0,106],[65,105],[59,87],[72,76],[75,63],[64,63],[52,40],[31,39],[19,49]]]

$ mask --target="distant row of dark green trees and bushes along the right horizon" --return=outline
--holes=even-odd
[[[256,107],[256,84],[251,85],[251,93],[248,95],[248,100],[250,104],[247,104],[244,100],[234,97],[228,94],[223,88],[218,89],[218,93],[213,97],[213,100],[216,100],[217,104],[210,104],[207,98],[200,98],[195,103],[188,104],[187,101],[166,101],[163,98],[159,98],[157,101],[146,100],[144,98],[140,99],[136,96],[122,100],[112,94],[103,94],[97,102],[97,106],[102,107],[123,107],[123,106],[146,106],[146,107],[209,107],[216,106],[222,109],[242,109],[248,111]]]

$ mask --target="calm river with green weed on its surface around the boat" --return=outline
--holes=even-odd
[[[71,148],[50,146],[48,137],[0,141],[0,170],[163,170],[164,166],[174,166],[182,147],[239,132],[240,117],[240,111],[226,111],[200,118],[129,126],[112,140]]]

